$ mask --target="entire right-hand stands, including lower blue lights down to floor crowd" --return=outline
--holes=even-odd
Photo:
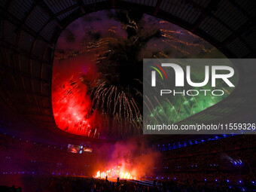
[[[256,182],[256,137],[229,136],[197,145],[161,151],[158,179],[236,186]],[[154,179],[155,175],[148,177]]]

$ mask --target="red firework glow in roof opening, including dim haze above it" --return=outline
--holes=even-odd
[[[90,113],[92,101],[87,95],[87,86],[80,80],[82,74],[86,74],[88,78],[95,78],[86,60],[90,59],[77,56],[54,61],[53,115],[56,125],[61,130],[80,136],[98,137],[99,126],[92,123],[96,112]]]

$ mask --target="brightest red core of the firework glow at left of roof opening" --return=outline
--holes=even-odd
[[[79,81],[66,81],[53,93],[53,114],[56,125],[78,135],[90,133],[90,98]]]

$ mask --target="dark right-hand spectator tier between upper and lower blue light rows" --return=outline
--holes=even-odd
[[[161,154],[166,171],[255,169],[256,137],[231,136]]]

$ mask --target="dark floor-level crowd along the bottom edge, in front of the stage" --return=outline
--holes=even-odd
[[[254,184],[246,183],[240,185],[230,185],[224,183],[209,183],[193,181],[177,181],[162,179],[152,184],[141,184],[136,181],[113,182],[105,181],[105,179],[71,177],[71,176],[50,176],[50,177],[34,177],[27,178],[35,185],[30,187],[29,191],[35,192],[223,192],[223,191],[254,191]],[[6,190],[8,191],[8,190]]]

